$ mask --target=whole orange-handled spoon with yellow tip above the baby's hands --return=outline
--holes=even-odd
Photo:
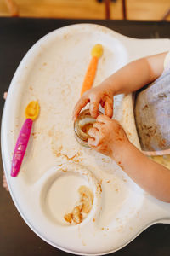
[[[91,51],[92,59],[89,63],[88,70],[82,84],[81,96],[86,90],[89,90],[94,84],[94,78],[95,78],[95,74],[98,66],[98,61],[102,54],[103,54],[102,45],[101,44],[94,45]]]

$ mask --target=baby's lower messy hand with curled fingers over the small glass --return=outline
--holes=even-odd
[[[88,134],[90,136],[88,145],[91,148],[110,156],[117,163],[122,160],[123,148],[129,144],[129,141],[118,121],[99,115]]]

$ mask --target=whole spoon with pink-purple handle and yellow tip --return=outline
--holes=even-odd
[[[31,135],[32,123],[35,119],[37,119],[39,108],[40,107],[38,102],[34,101],[30,102],[26,107],[26,121],[24,125],[22,125],[19,137],[14,148],[14,155],[11,167],[12,177],[16,177],[20,171],[20,166],[26,153],[27,144]]]

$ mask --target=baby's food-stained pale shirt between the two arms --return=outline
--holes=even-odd
[[[161,76],[136,96],[134,115],[141,148],[170,154],[170,52]]]

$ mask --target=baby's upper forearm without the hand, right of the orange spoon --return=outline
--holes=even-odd
[[[167,53],[152,55],[130,62],[113,73],[102,84],[112,90],[113,94],[128,94],[139,90],[146,84],[157,79],[163,71],[163,62]]]

